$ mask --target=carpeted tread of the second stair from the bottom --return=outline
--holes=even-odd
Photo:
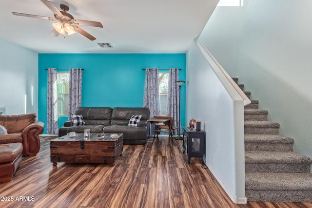
[[[293,151],[245,151],[245,163],[311,164],[312,160]]]

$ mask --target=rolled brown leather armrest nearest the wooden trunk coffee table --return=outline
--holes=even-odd
[[[28,125],[22,132],[23,154],[35,156],[40,150],[39,134],[43,132],[44,123],[36,121]]]

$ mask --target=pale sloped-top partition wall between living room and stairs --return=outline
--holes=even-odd
[[[227,89],[224,87],[220,81],[223,74],[213,68],[216,65],[208,63],[196,41],[193,42],[187,52],[186,119],[187,123],[192,118],[201,121],[201,129],[206,132],[206,165],[230,198],[244,204],[243,99],[230,83]],[[229,91],[235,96],[232,97]],[[235,120],[239,117],[240,120]],[[236,125],[241,126],[238,131]]]

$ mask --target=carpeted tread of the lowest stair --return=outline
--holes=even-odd
[[[311,173],[246,172],[246,190],[312,190]]]

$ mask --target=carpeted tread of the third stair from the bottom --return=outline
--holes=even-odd
[[[245,143],[291,143],[293,139],[279,134],[245,134]]]

